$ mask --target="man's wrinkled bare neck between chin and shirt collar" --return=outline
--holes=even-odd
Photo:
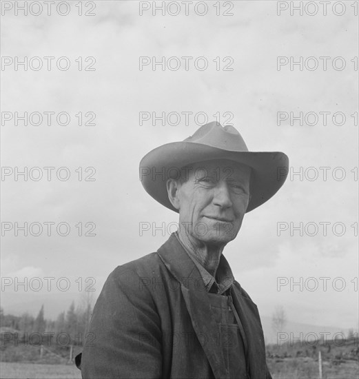
[[[222,254],[225,245],[206,244],[201,241],[191,238],[186,232],[177,232],[178,238],[185,246],[187,251],[196,258],[203,267],[211,274],[216,276],[219,265],[220,254]]]

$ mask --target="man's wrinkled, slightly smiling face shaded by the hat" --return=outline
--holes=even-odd
[[[225,245],[242,225],[251,169],[224,159],[190,167],[188,180],[178,184],[179,225],[194,243]]]

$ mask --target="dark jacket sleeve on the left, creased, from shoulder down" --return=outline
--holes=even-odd
[[[83,378],[161,378],[161,322],[132,270],[117,267],[107,278],[86,337]]]

